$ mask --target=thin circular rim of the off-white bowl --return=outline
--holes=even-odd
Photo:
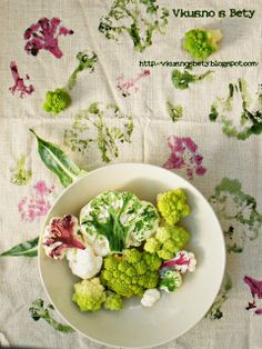
[[[50,301],[51,303],[53,303],[53,301],[52,301],[52,299],[51,299],[51,297],[50,297],[50,295],[49,295],[49,291],[48,291],[48,289],[47,289],[47,287],[46,287],[46,285],[44,285],[44,281],[43,281],[43,277],[42,277],[42,272],[41,272],[41,258],[40,258],[41,253],[40,253],[40,251],[41,251],[41,249],[42,249],[41,241],[42,241],[43,230],[44,230],[46,226],[49,223],[48,217],[49,217],[51,210],[53,209],[53,207],[57,205],[57,202],[61,199],[61,197],[62,197],[69,189],[71,189],[71,188],[72,188],[74,185],[77,185],[79,181],[83,180],[85,177],[90,176],[91,173],[93,174],[93,173],[95,173],[97,171],[100,171],[100,170],[105,169],[105,168],[109,168],[109,167],[112,167],[112,168],[113,168],[113,167],[117,167],[117,168],[118,168],[118,167],[122,167],[122,166],[148,167],[148,168],[152,168],[152,170],[153,170],[153,169],[158,169],[158,170],[162,170],[162,171],[167,171],[167,172],[169,172],[169,173],[172,173],[174,177],[179,177],[180,179],[182,179],[182,180],[184,180],[185,182],[188,182],[189,187],[191,187],[191,188],[193,188],[194,190],[196,190],[198,195],[199,195],[199,196],[205,201],[205,203],[208,203],[208,206],[211,208],[211,210],[212,210],[212,212],[213,212],[213,215],[214,215],[214,219],[215,219],[215,221],[216,221],[216,223],[218,223],[218,226],[219,226],[219,228],[220,228],[220,232],[221,232],[221,237],[222,237],[222,241],[223,241],[223,243],[222,243],[223,251],[221,251],[221,253],[223,252],[223,253],[222,253],[222,255],[223,255],[223,266],[222,266],[222,271],[223,271],[223,272],[221,273],[221,280],[220,280],[220,282],[219,282],[218,291],[215,292],[214,298],[213,298],[213,300],[212,300],[212,303],[210,305],[210,308],[211,308],[212,305],[213,305],[213,302],[214,302],[214,300],[215,300],[215,298],[216,298],[216,296],[219,295],[219,291],[220,291],[220,289],[221,289],[222,283],[223,283],[224,273],[225,273],[225,266],[226,266],[226,247],[225,247],[225,240],[224,240],[223,230],[222,230],[221,223],[220,223],[220,221],[219,221],[219,218],[218,218],[216,213],[214,212],[212,206],[211,206],[210,202],[208,201],[208,199],[206,199],[206,198],[203,196],[203,193],[202,193],[196,187],[194,187],[189,180],[187,180],[187,179],[183,178],[182,176],[180,176],[180,174],[178,174],[178,173],[175,173],[175,172],[172,172],[172,171],[170,171],[170,170],[168,170],[168,169],[165,169],[165,168],[159,167],[159,166],[157,166],[157,164],[143,163],[143,162],[117,162],[117,163],[110,163],[110,164],[105,164],[105,166],[101,166],[101,167],[99,167],[99,168],[95,168],[95,169],[93,169],[93,170],[87,172],[85,174],[83,174],[83,176],[77,178],[71,185],[69,185],[68,187],[66,187],[66,188],[61,191],[61,193],[56,198],[56,200],[53,201],[51,208],[49,209],[49,211],[47,212],[47,215],[46,215],[46,217],[44,217],[43,223],[41,225],[40,235],[39,235],[39,242],[38,242],[38,272],[39,272],[39,276],[40,276],[40,280],[41,280],[43,290],[44,290],[46,296],[48,297],[49,301]],[[210,308],[209,308],[209,309],[210,309]],[[208,311],[209,311],[209,310],[208,310]],[[97,342],[97,343],[99,343],[99,345],[103,345],[103,346],[105,345],[105,346],[111,347],[111,348],[118,348],[118,346],[114,346],[114,345],[112,345],[112,343],[108,343],[108,342],[98,340],[97,338],[89,337],[87,333],[83,333],[81,330],[79,330],[79,329],[77,329],[74,326],[72,326],[72,325],[69,322],[69,320],[67,320],[67,319],[63,317],[63,315],[61,315],[61,312],[60,312],[57,308],[56,308],[56,312],[61,317],[61,319],[62,319],[66,323],[68,323],[70,327],[72,327],[72,328],[75,330],[75,333],[80,333],[80,335],[83,336],[84,338],[88,338],[89,340],[92,340],[92,341],[94,341],[94,342]],[[193,326],[187,327],[187,328],[184,329],[184,331],[182,331],[179,336],[174,336],[174,337],[172,337],[172,338],[169,338],[168,340],[161,340],[161,341],[154,343],[153,346],[151,346],[151,348],[165,345],[165,343],[168,343],[168,342],[170,342],[170,341],[172,341],[172,340],[174,340],[174,339],[177,339],[177,338],[183,336],[183,335],[187,333],[190,329],[194,328],[194,327],[200,322],[200,320],[202,320],[202,319],[204,318],[205,315],[206,315],[206,312],[205,312],[201,318],[199,318],[199,320],[198,320]],[[131,348],[143,349],[143,348],[149,348],[149,346],[135,346],[135,347],[132,347],[132,346],[124,346],[123,348],[129,348],[129,349],[131,349]]]

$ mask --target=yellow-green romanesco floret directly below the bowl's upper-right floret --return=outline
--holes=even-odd
[[[163,260],[169,260],[183,249],[189,239],[189,232],[182,227],[165,225],[158,229],[155,237],[145,241],[144,250],[157,253]]]

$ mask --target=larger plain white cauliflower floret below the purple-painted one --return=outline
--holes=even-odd
[[[102,257],[95,256],[92,248],[87,246],[84,250],[69,249],[67,259],[72,273],[82,278],[90,279],[95,276],[102,267]]]

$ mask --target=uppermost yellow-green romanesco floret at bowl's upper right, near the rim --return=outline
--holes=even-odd
[[[182,189],[170,190],[158,196],[158,209],[169,225],[190,215],[187,195]]]

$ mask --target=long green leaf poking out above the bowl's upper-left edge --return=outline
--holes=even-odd
[[[81,170],[58,146],[52,144],[30,129],[38,140],[38,152],[47,168],[58,176],[63,187],[70,186],[79,177],[87,173]]]

